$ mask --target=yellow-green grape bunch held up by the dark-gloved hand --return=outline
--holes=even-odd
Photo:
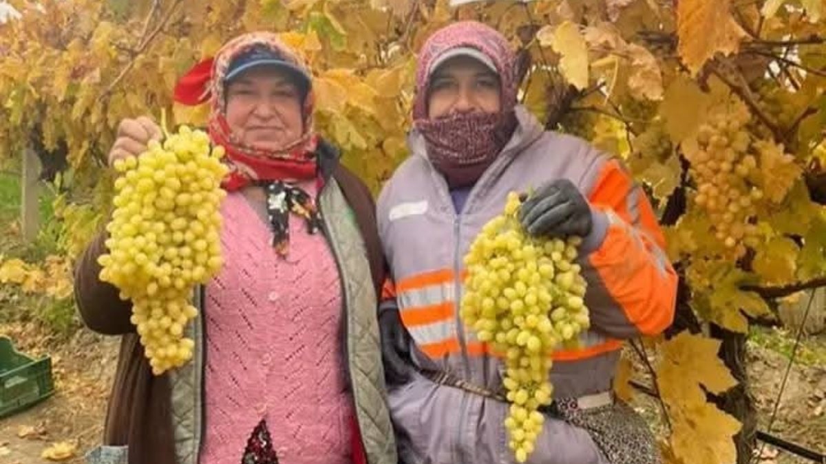
[[[575,263],[582,240],[530,237],[517,219],[519,208],[520,198],[511,192],[504,214],[471,244],[461,315],[477,339],[504,357],[502,383],[511,403],[505,427],[516,460],[525,462],[544,424],[539,406],[549,405],[553,395],[551,355],[560,343],[577,346],[591,322],[586,281]]]

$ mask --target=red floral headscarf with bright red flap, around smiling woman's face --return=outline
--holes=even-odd
[[[230,130],[225,117],[225,75],[233,60],[256,47],[264,46],[309,77],[311,74],[301,58],[278,36],[268,32],[252,32],[227,42],[216,54],[183,76],[175,88],[175,99],[189,105],[210,102],[209,135],[213,144],[226,149],[230,174],[223,187],[233,191],[255,181],[306,180],[316,176],[318,135],[313,127],[314,95],[308,89],[304,98],[304,130],[301,137],[277,150],[256,149],[244,144]]]

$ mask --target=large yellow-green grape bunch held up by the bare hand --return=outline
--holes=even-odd
[[[183,337],[197,316],[192,287],[221,268],[223,155],[206,133],[182,126],[163,144],[151,141],[140,156],[115,162],[120,176],[100,278],[132,301],[131,322],[154,375],[192,358],[194,343]]]

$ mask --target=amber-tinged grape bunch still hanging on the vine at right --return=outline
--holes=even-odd
[[[754,203],[763,196],[748,180],[757,169],[757,158],[749,152],[749,119],[746,107],[714,107],[700,125],[699,149],[686,153],[697,184],[694,202],[709,215],[716,239],[735,257],[743,256],[745,247],[757,240],[757,226],[750,218]]]

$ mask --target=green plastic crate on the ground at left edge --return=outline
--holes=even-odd
[[[0,419],[36,405],[55,393],[51,357],[32,359],[0,337]]]

